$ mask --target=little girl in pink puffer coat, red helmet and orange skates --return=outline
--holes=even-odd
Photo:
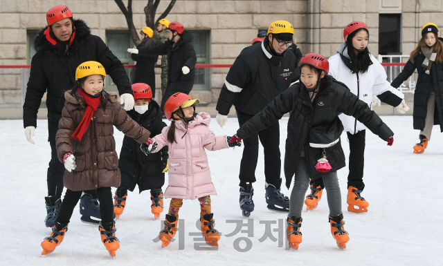
[[[218,247],[220,236],[214,229],[213,213],[210,208],[210,195],[217,195],[210,178],[208,157],[204,148],[210,151],[240,146],[241,140],[230,142],[231,137],[216,137],[209,130],[210,115],[195,113],[198,99],[185,93],[175,93],[165,102],[165,115],[171,125],[163,128],[161,134],[143,144],[144,153],[155,153],[163,146],[169,146],[168,175],[169,185],[165,198],[172,198],[165,219],[165,229],[160,232],[162,246],[169,245],[177,231],[179,209],[183,199],[200,202],[201,234],[210,245]]]

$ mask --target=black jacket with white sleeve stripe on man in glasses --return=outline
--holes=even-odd
[[[275,56],[266,38],[248,46],[235,59],[226,76],[217,102],[217,111],[228,115],[230,107],[255,115],[300,77],[298,60],[291,52]]]

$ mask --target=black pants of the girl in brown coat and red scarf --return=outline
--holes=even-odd
[[[100,187],[97,190],[98,200],[100,201],[100,216],[102,222],[113,222],[114,216],[114,202],[112,202],[112,192],[110,187]],[[64,193],[64,199],[62,205],[60,205],[60,211],[57,216],[57,222],[61,224],[69,223],[75,205],[82,196],[82,191],[71,191],[66,189]]]

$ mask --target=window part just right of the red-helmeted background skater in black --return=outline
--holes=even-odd
[[[209,56],[209,31],[208,30],[190,30],[194,39],[195,55],[197,55],[197,64],[210,64]],[[192,90],[206,91],[210,90],[209,80],[210,68],[195,68],[195,81]]]

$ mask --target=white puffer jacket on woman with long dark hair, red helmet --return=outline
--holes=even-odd
[[[336,49],[337,54],[329,57],[329,75],[332,75],[339,82],[343,82],[354,95],[358,95],[359,99],[368,104],[372,110],[372,95],[377,96],[382,93],[390,91],[393,95],[401,99],[404,99],[404,94],[398,91],[396,88],[390,86],[390,83],[386,80],[386,71],[381,66],[380,62],[370,55],[372,65],[369,66],[368,72],[352,74],[351,70],[345,65],[341,59],[341,51],[345,48],[345,43],[341,44]],[[343,56],[350,59],[347,55],[347,48],[343,50]],[[396,105],[397,106],[397,105]],[[345,131],[354,134],[356,132],[366,129],[366,126],[358,122],[354,117],[348,115],[339,115]]]

